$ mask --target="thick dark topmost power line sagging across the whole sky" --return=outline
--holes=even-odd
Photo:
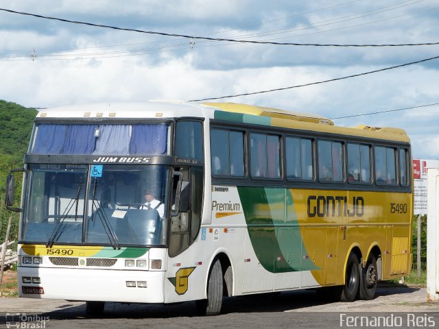
[[[43,16],[38,14],[31,14],[28,12],[16,12],[15,10],[9,10],[5,8],[0,8],[3,12],[11,12],[13,14],[21,14],[25,16],[34,16],[39,19],[50,19],[54,21],[61,21],[65,23],[73,23],[80,25],[88,25],[94,27],[104,27],[108,29],[117,29],[119,31],[127,31],[127,32],[138,32],[144,34],[157,34],[160,36],[176,36],[180,38],[189,38],[189,39],[197,39],[197,40],[211,40],[211,41],[228,41],[228,42],[237,42],[237,43],[253,43],[260,45],[281,45],[281,46],[313,46],[313,47],[403,47],[403,46],[429,46],[429,45],[439,45],[439,42],[424,42],[424,43],[405,43],[405,44],[382,44],[382,45],[337,45],[337,44],[319,44],[319,43],[296,43],[296,42],[271,42],[271,41],[254,41],[254,40],[237,40],[237,39],[228,39],[228,38],[209,38],[207,36],[189,36],[186,34],[170,34],[165,32],[154,32],[154,31],[145,31],[142,29],[129,29],[125,27],[116,27],[112,25],[103,25],[103,24],[95,24],[95,23],[86,23],[81,21],[71,21],[69,19],[59,19],[51,16]]]

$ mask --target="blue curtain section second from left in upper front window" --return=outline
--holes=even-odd
[[[91,154],[96,125],[69,125],[61,154]]]

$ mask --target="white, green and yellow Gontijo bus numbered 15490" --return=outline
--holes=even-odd
[[[401,129],[237,103],[66,106],[38,113],[24,163],[21,206],[14,174],[6,196],[20,297],[217,315],[224,296],[294,289],[370,300],[411,267]]]

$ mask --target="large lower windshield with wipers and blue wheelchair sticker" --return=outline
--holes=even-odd
[[[27,175],[21,241],[165,245],[163,165],[33,164]]]

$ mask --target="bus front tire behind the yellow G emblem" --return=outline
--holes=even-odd
[[[208,316],[219,315],[222,306],[223,289],[222,268],[219,259],[217,259],[211,267],[211,273],[209,273],[207,299],[195,302],[198,314]]]

